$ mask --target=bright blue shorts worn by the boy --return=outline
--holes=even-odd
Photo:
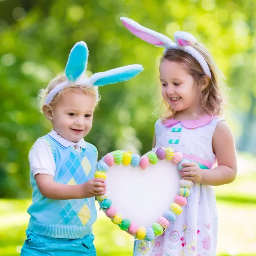
[[[82,239],[66,239],[39,236],[26,230],[26,236],[20,256],[96,256],[93,235]]]

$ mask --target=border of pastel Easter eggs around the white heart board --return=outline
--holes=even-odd
[[[97,163],[95,177],[102,177],[102,178],[106,179],[107,178],[106,172],[108,171],[108,167],[113,166],[114,163],[124,164],[126,166],[131,164],[133,167],[140,166],[140,169],[145,170],[145,169],[147,169],[149,164],[156,164],[158,162],[158,160],[161,160],[160,158],[162,158],[162,160],[163,159],[172,160],[172,162],[177,164],[177,165],[180,162],[186,162],[187,161],[186,159],[183,158],[183,154],[181,152],[174,152],[173,148],[160,148],[160,149],[163,149],[165,151],[165,158],[163,158],[163,151],[161,152],[162,155],[160,155],[160,154],[157,155],[156,154],[156,152],[159,148],[154,148],[151,151],[148,151],[142,157],[140,157],[138,154],[133,154],[130,151],[116,150],[116,151],[113,151],[111,153],[108,153],[107,154],[108,155],[108,157],[107,157],[108,161],[106,160],[107,163],[105,162],[105,157],[107,155],[102,157],[102,160],[100,160]],[[112,159],[110,154],[113,156],[113,159]],[[133,156],[134,156],[134,159],[136,159],[136,161],[132,161]],[[138,162],[139,159],[140,159],[140,162]],[[181,166],[181,163],[180,163],[180,165],[178,166],[178,169],[182,169],[182,168],[183,167]],[[177,191],[177,196],[175,197],[175,203],[172,203],[170,209],[166,210],[164,212],[163,215],[165,215],[165,217],[160,216],[158,218],[157,222],[153,223],[151,227],[145,228],[145,227],[141,226],[141,227],[135,227],[135,229],[130,229],[130,227],[134,226],[134,225],[132,226],[132,224],[134,224],[134,223],[130,223],[130,225],[128,227],[128,224],[129,224],[128,219],[125,219],[126,226],[123,225],[125,227],[122,227],[122,221],[124,219],[123,219],[122,213],[120,213],[120,212],[118,212],[118,213],[115,212],[115,215],[113,217],[111,217],[111,218],[108,217],[108,218],[110,218],[111,221],[114,224],[117,224],[122,230],[125,230],[126,232],[128,232],[132,236],[135,236],[137,239],[152,241],[157,236],[160,236],[165,232],[166,228],[169,227],[169,225],[173,221],[175,221],[175,219],[177,218],[177,215],[181,214],[182,206],[187,204],[186,200],[190,196],[190,190],[189,189],[193,185],[193,182],[191,180],[182,179],[182,180],[180,180],[179,184],[180,184],[181,188],[178,189],[178,191]],[[182,198],[184,198],[184,199],[182,199]],[[99,205],[100,205],[101,209],[106,214],[107,209],[109,209],[111,207],[111,204],[112,204],[111,199],[108,198],[108,192],[103,196],[97,197],[97,200],[99,202]],[[115,207],[115,209],[116,209],[116,207]],[[172,218],[172,216],[169,216],[169,217],[167,216],[169,211],[173,212],[175,214],[175,216],[174,216],[174,214],[171,214],[171,215],[174,216],[173,218]],[[154,237],[152,236],[152,230],[154,231]],[[147,236],[147,234],[148,234],[148,236]]]

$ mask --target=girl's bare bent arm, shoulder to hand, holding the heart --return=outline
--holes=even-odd
[[[200,169],[196,163],[183,163],[184,168],[180,171],[183,179],[211,186],[223,185],[235,180],[237,173],[235,143],[230,128],[224,121],[220,121],[215,128],[212,148],[218,166],[213,169]]]

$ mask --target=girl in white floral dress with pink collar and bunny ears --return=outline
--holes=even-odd
[[[233,136],[220,117],[224,96],[218,69],[191,34],[175,32],[174,43],[133,20],[121,20],[134,35],[165,47],[159,70],[167,108],[155,124],[153,148],[182,152],[189,162],[180,174],[194,183],[181,215],[151,246],[136,241],[134,255],[215,256],[218,217],[212,186],[232,182],[237,172]]]

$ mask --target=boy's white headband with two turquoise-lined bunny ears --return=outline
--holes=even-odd
[[[65,68],[67,81],[58,84],[48,93],[45,99],[46,105],[50,104],[53,98],[65,87],[75,85],[95,87],[96,100],[98,100],[97,86],[128,81],[143,71],[142,65],[134,64],[125,67],[118,67],[105,72],[95,73],[89,79],[81,79],[81,76],[87,68],[88,55],[89,52],[87,45],[83,41],[74,45],[71,49]]]

